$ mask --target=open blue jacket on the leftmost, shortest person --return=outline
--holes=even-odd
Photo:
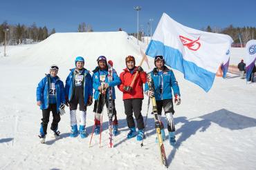
[[[37,86],[37,101],[41,101],[42,105],[40,105],[40,109],[48,109],[49,107],[49,89],[51,83],[50,74],[46,74],[46,76],[38,83]],[[64,84],[57,76],[56,83],[56,101],[57,101],[57,111],[59,111],[59,107],[61,103],[65,103],[65,90]]]

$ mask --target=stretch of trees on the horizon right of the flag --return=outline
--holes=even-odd
[[[208,25],[207,28],[202,28],[203,31],[207,32],[216,32],[220,34],[228,34],[233,39],[234,43],[247,43],[251,39],[256,39],[256,28],[255,27],[234,27],[233,25],[229,25],[227,28],[211,28]],[[240,42],[241,39],[241,42]]]

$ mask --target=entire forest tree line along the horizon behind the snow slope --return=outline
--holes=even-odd
[[[246,43],[251,39],[255,39],[256,37],[256,28],[255,27],[234,27],[233,25],[229,25],[227,28],[211,28],[208,25],[207,28],[202,28],[201,30],[206,32],[214,32],[220,34],[228,34],[234,40],[234,43]],[[77,27],[77,32],[93,32],[93,28],[91,25],[86,24],[84,22],[79,23]],[[4,44],[4,39],[6,37],[6,44],[8,45],[17,45],[21,43],[35,43],[39,41],[43,41],[51,34],[55,34],[55,28],[48,31],[46,26],[37,27],[36,23],[32,25],[24,25],[18,23],[17,25],[10,25],[6,21],[4,21],[0,25],[0,44]],[[133,35],[137,37],[137,33],[130,33],[129,35]],[[139,32],[139,39],[142,39],[143,32]]]

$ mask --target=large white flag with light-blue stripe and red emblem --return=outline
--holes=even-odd
[[[146,54],[163,55],[167,65],[208,92],[231,43],[226,34],[188,28],[163,13]]]

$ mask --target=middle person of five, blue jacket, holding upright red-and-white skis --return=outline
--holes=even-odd
[[[95,99],[94,109],[95,112],[95,134],[100,134],[100,117],[102,113],[102,109],[104,107],[104,103],[106,103],[107,108],[109,108],[109,89],[108,87],[112,88],[112,98],[113,98],[113,135],[116,136],[119,134],[118,131],[118,118],[116,116],[116,107],[115,107],[115,86],[121,83],[116,70],[113,69],[113,80],[109,81],[108,75],[108,66],[107,66],[107,59],[105,56],[99,56],[97,59],[98,66],[93,70],[93,89]],[[101,80],[100,80],[101,77]],[[102,83],[104,83],[104,89],[102,89]],[[104,93],[106,95],[100,95],[100,93]]]

